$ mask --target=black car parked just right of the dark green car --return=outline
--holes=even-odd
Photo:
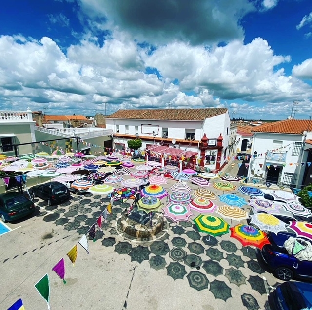
[[[33,186],[32,195],[47,201],[48,205],[63,202],[70,197],[68,188],[56,181]]]

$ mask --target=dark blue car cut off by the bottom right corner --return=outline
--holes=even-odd
[[[269,305],[272,310],[312,309],[312,284],[284,282],[270,293]]]

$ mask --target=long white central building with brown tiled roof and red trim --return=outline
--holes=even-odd
[[[114,132],[116,149],[127,148],[127,141],[138,137],[142,140],[141,149],[166,146],[194,152],[199,157],[207,157],[206,167],[216,169],[227,156],[230,116],[227,109],[119,110],[106,117],[106,128]],[[208,148],[203,154],[200,143],[204,134]],[[223,138],[221,152],[217,147],[220,135]]]

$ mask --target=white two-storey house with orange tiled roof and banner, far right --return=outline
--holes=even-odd
[[[309,150],[305,147],[305,141],[312,137],[312,131],[307,131],[309,122],[291,119],[255,128],[248,177],[273,184],[301,186],[310,166]]]

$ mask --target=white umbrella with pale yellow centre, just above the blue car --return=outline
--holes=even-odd
[[[274,232],[286,231],[285,223],[272,214],[258,213],[250,216],[251,224],[259,227],[262,231]]]

